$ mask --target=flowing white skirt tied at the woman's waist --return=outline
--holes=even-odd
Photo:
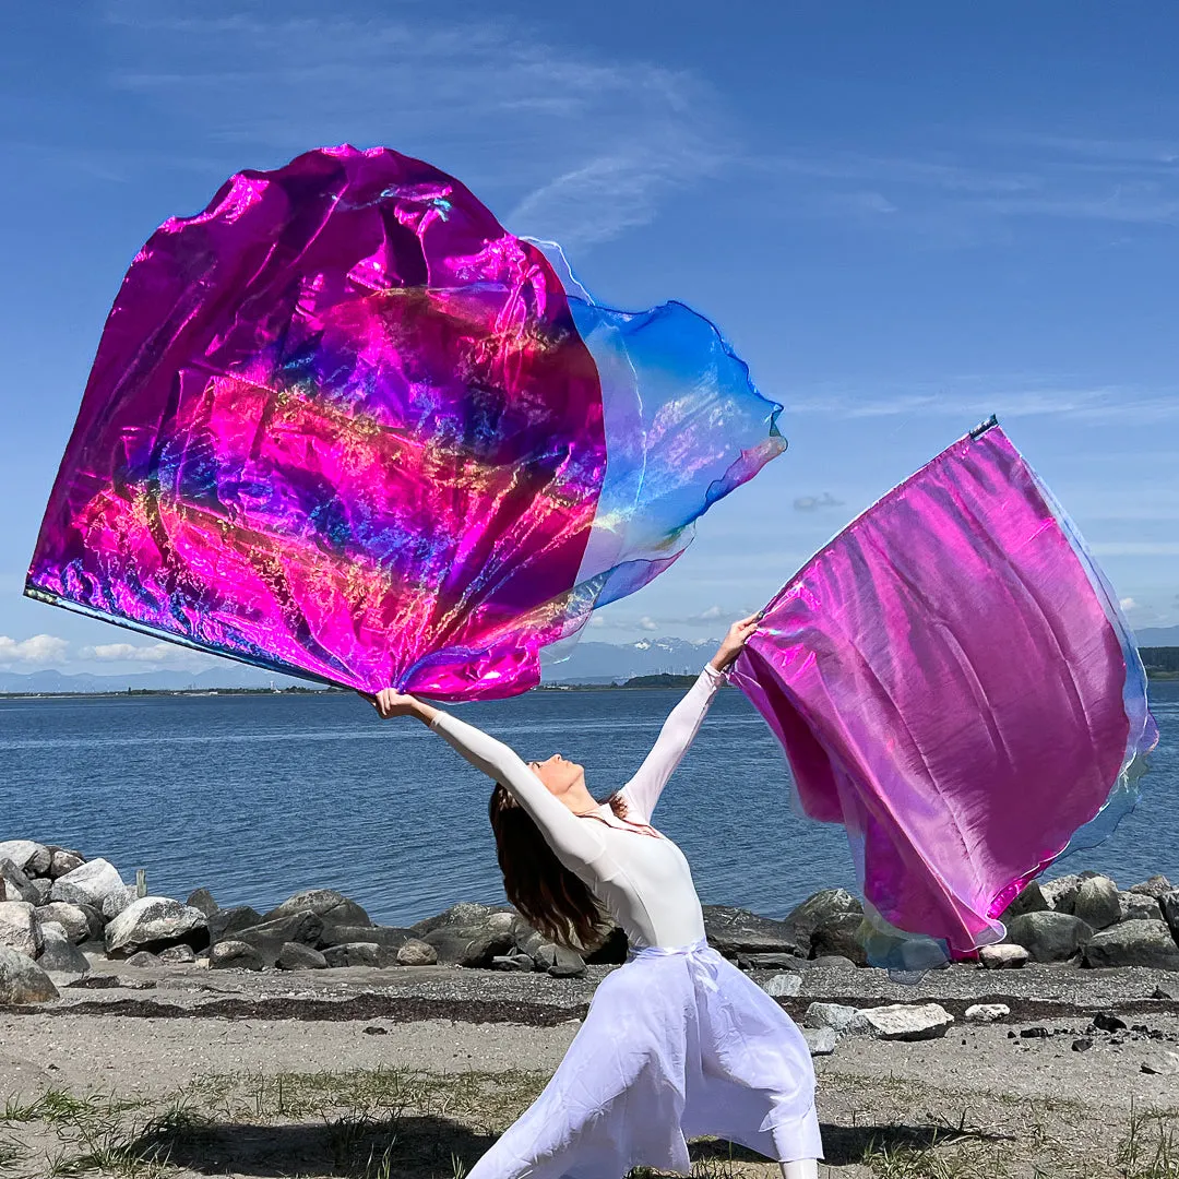
[[[686,1139],[704,1134],[780,1162],[823,1157],[806,1041],[700,941],[606,977],[545,1092],[470,1179],[687,1174]]]

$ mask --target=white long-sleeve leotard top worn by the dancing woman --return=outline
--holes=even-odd
[[[621,791],[627,819],[608,805],[593,817],[574,815],[511,747],[447,712],[430,726],[472,765],[503,784],[532,816],[558,859],[585,882],[626,931],[631,946],[673,949],[704,937],[704,915],[684,854],[671,839],[635,830],[651,812],[679,765],[725,677],[711,666],[700,672],[664,723],[638,773]]]

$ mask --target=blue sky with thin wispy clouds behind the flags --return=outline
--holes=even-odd
[[[1179,624],[1179,8],[25,5],[0,44],[0,667],[208,665],[24,601],[123,272],[241,167],[386,144],[683,299],[790,450],[594,637],[704,637],[994,411],[1131,620]]]

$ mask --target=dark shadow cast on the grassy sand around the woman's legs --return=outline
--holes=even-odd
[[[946,1126],[823,1126],[829,1166],[862,1162],[869,1151],[923,1151],[963,1139],[997,1141],[1000,1137]],[[479,1133],[440,1117],[294,1126],[213,1122],[159,1127],[134,1139],[124,1151],[129,1158],[166,1161],[197,1174],[231,1171],[259,1179],[290,1174],[383,1179],[462,1174],[495,1139],[495,1134]],[[694,1142],[691,1153],[694,1161],[766,1161],[744,1146],[723,1140]]]

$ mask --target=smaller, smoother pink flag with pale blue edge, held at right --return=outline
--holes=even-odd
[[[1125,811],[1158,736],[1113,591],[997,426],[817,553],[735,680],[802,811],[847,828],[869,954],[902,970],[1001,940],[1023,884]]]

